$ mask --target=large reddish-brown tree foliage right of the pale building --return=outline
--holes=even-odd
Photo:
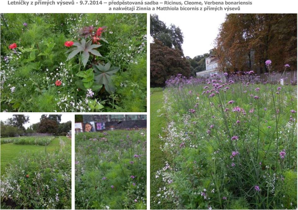
[[[229,14],[216,38],[216,54],[225,71],[297,69],[297,14]]]

